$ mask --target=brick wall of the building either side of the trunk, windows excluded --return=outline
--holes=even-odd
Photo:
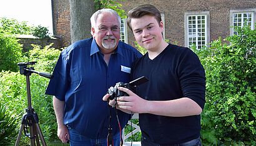
[[[61,37],[63,45],[70,45],[70,10],[68,0],[52,0],[54,34]],[[120,1],[128,12],[140,4],[153,4],[165,16],[165,39],[184,46],[184,14],[186,12],[208,11],[210,14],[210,41],[230,35],[230,9],[249,9],[256,7],[255,0],[125,0]],[[128,32],[128,43],[134,45],[134,36]]]

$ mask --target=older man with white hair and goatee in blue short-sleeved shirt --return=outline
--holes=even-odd
[[[71,146],[107,145],[110,125],[117,146],[121,134],[116,112],[109,111],[102,96],[117,82],[130,81],[130,65],[142,55],[119,42],[121,18],[116,11],[95,12],[91,25],[93,38],[75,42],[61,52],[46,94],[54,96],[57,135],[63,143],[70,140]],[[122,129],[130,116],[117,112]]]

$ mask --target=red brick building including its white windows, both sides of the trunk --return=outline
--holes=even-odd
[[[254,29],[256,22],[255,0],[126,0],[121,4],[126,12],[140,4],[153,4],[162,14],[165,39],[186,47],[195,43],[200,48],[219,37],[235,34],[231,27],[234,25],[247,23]],[[70,45],[69,0],[52,0],[52,18],[54,35],[61,38],[63,47]],[[134,45],[126,20],[121,27],[121,40]]]

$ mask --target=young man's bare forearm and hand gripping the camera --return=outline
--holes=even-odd
[[[119,108],[123,110],[170,117],[194,116],[202,112],[199,104],[190,98],[184,97],[170,101],[147,101],[127,88],[119,87],[119,89],[129,94],[129,96],[122,96],[117,99]]]

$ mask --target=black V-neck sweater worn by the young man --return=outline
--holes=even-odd
[[[136,93],[149,101],[190,98],[205,104],[205,71],[192,50],[169,44],[154,60],[146,53],[132,65],[132,80],[146,76]],[[177,144],[200,136],[200,115],[167,117],[139,114],[142,135],[157,144]]]

